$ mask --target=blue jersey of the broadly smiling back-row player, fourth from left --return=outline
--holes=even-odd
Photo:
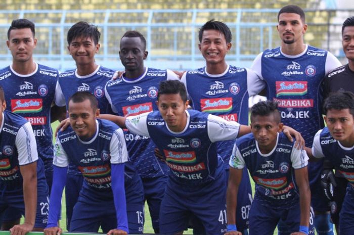
[[[250,72],[228,65],[222,74],[208,74],[203,67],[186,72],[181,81],[187,88],[193,109],[248,125],[247,76]],[[233,140],[217,143],[217,152],[226,168],[229,168],[233,144]]]

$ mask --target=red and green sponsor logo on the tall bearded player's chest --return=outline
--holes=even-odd
[[[303,96],[307,93],[307,81],[276,81],[276,93],[279,96]]]

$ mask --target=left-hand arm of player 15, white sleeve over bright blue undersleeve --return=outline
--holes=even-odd
[[[53,184],[49,204],[48,224],[44,229],[45,235],[56,235],[57,233],[60,235],[62,232],[62,229],[58,226],[58,220],[68,164],[68,156],[60,144],[60,139],[57,137],[53,159]]]

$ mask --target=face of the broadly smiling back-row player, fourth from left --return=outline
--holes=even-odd
[[[225,35],[218,30],[204,30],[202,41],[199,43],[199,51],[207,64],[223,64],[225,56],[230,51],[231,43],[227,43]]]

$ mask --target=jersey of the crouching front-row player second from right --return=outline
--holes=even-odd
[[[259,151],[257,141],[249,133],[236,140],[230,166],[247,167],[256,183],[255,198],[286,208],[299,200],[293,169],[307,166],[307,161],[306,152],[294,148],[294,143],[282,132],[277,136],[277,145],[268,154]]]

